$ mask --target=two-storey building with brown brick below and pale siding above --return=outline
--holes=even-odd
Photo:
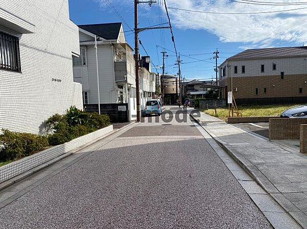
[[[221,94],[238,104],[305,103],[307,47],[247,49],[219,67]]]

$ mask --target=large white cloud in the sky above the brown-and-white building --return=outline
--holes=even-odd
[[[302,1],[302,0],[301,0]],[[273,2],[273,1],[272,1]],[[283,1],[291,2],[291,1]],[[298,2],[298,0],[295,0]],[[279,11],[300,6],[261,6],[240,4],[228,0],[167,0],[168,7],[211,12]],[[223,42],[244,42],[248,47],[268,47],[276,40],[307,41],[306,9],[289,13],[225,15],[185,12],[169,9],[173,24],[181,29],[207,30]],[[205,41],[205,38],[204,38]],[[245,48],[245,47],[243,47]]]

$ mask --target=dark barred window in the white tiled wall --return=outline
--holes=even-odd
[[[0,32],[0,69],[21,71],[19,38]]]

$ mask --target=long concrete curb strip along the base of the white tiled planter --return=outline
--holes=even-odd
[[[120,131],[120,130],[123,130],[123,129],[125,129],[125,128],[128,128],[128,126],[133,125],[133,124],[136,124],[136,123],[137,123],[137,122],[131,122],[131,123],[129,123],[129,124],[123,126],[123,127],[120,128],[120,129],[116,129],[116,130],[112,131],[111,133],[107,133],[106,135],[102,136],[101,138],[95,139],[95,141],[93,141],[93,142],[91,142],[91,143],[84,144],[84,145],[80,146],[80,147],[77,148],[77,149],[74,149],[74,150],[72,150],[72,151],[70,151],[70,152],[67,152],[66,154],[63,154],[63,155],[61,155],[61,156],[59,156],[59,157],[57,157],[57,158],[55,158],[55,159],[52,159],[52,160],[50,160],[50,161],[48,161],[48,162],[46,162],[46,163],[43,163],[43,164],[41,164],[41,165],[39,165],[39,166],[36,166],[35,168],[33,168],[33,169],[29,170],[29,171],[26,171],[26,172],[24,172],[24,173],[21,173],[20,175],[15,176],[15,177],[13,177],[13,178],[10,179],[10,180],[1,183],[1,184],[0,184],[0,191],[2,191],[3,189],[5,189],[5,188],[7,188],[7,187],[9,187],[9,186],[11,186],[11,185],[13,185],[13,184],[15,184],[15,183],[21,181],[21,180],[24,180],[24,179],[27,178],[28,176],[30,176],[30,175],[32,175],[32,174],[34,174],[34,173],[36,173],[36,172],[38,172],[38,171],[40,171],[40,170],[42,170],[42,169],[45,169],[45,168],[47,168],[47,167],[49,167],[49,166],[51,166],[51,165],[53,165],[53,164],[55,164],[55,163],[57,163],[57,162],[63,160],[64,158],[67,158],[67,157],[69,157],[69,156],[71,156],[71,155],[73,155],[73,154],[76,154],[76,152],[81,151],[82,149],[84,149],[84,148],[86,148],[86,147],[88,147],[88,146],[90,146],[90,145],[92,145],[92,144],[94,144],[94,143],[96,143],[96,142],[98,142],[98,141],[100,141],[100,140],[102,140],[102,139],[104,139],[104,138],[106,138],[106,137],[112,135],[112,134],[115,134],[115,133],[117,133],[117,132]]]

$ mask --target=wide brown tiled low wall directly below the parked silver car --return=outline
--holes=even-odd
[[[307,118],[270,118],[270,140],[300,139],[300,125]]]

